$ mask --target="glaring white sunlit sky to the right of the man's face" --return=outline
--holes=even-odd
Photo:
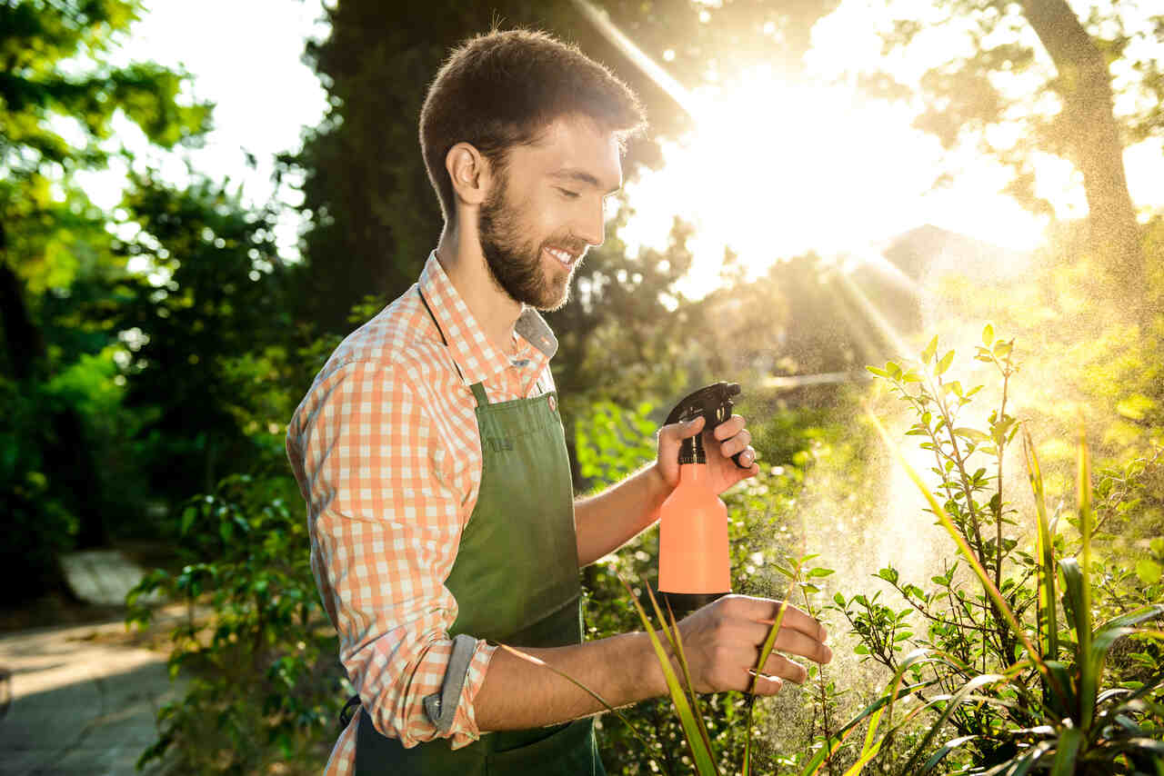
[[[1087,1],[1073,5],[1085,10]],[[920,0],[892,3],[921,20],[937,13]],[[973,149],[943,155],[934,136],[910,127],[913,113],[904,106],[863,98],[852,86],[824,85],[860,66],[916,83],[918,58],[881,57],[878,31],[887,17],[885,0],[844,0],[814,28],[805,58],[812,80],[781,83],[761,65],[718,94],[687,95],[697,129],[665,147],[663,169],[627,185],[637,213],[620,235],[631,249],[665,247],[675,213],[694,222],[695,264],[682,287],[697,297],[715,286],[725,247],[753,276],[808,250],[867,256],[923,223],[1002,248],[1036,247],[1045,218],[999,193],[1010,178],[1007,169]],[[1041,50],[1034,31],[1025,33]],[[947,55],[956,42],[923,34],[917,43],[924,57]],[[1164,56],[1164,43],[1157,56]],[[1044,65],[1050,69],[1049,59]],[[1161,142],[1129,148],[1124,159],[1136,205],[1164,208]],[[941,171],[952,175],[952,184],[931,190]],[[1081,178],[1069,163],[1042,157],[1036,171],[1036,193],[1051,201],[1058,218],[1086,214]]]

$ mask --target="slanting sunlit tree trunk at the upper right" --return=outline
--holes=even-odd
[[[1059,122],[1072,162],[1084,176],[1092,249],[1110,280],[1124,290],[1142,290],[1144,255],[1123,170],[1107,60],[1065,0],[1021,2],[1058,70]]]

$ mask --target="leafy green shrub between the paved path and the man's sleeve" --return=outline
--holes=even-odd
[[[141,756],[189,774],[317,773],[334,738],[345,688],[334,628],[307,560],[306,524],[289,478],[232,475],[182,512],[179,572],[155,570],[129,595],[128,622],[146,625],[142,596],[161,592],[189,615],[171,633],[170,674],[185,697],[158,712],[159,738]]]

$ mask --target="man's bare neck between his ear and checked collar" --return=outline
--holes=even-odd
[[[476,225],[467,223],[470,218],[471,214],[462,213],[457,223],[445,223],[436,243],[436,259],[489,341],[502,353],[513,353],[513,325],[521,315],[521,302],[497,287],[481,251]]]

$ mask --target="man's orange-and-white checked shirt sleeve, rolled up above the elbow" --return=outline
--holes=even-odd
[[[453,653],[457,608],[443,582],[471,499],[410,380],[386,364],[339,366],[312,386],[288,453],[308,505],[315,582],[372,724],[405,747],[449,738],[457,749],[481,735],[473,702],[496,647],[476,642],[452,726],[438,729],[424,698],[441,691]]]

